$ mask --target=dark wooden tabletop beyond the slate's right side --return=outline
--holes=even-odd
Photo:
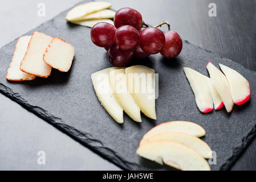
[[[113,9],[133,7],[146,23],[169,20],[182,39],[216,52],[256,71],[255,0],[108,0]],[[209,3],[216,4],[217,16],[209,16]],[[166,31],[167,27],[162,27]],[[256,140],[231,168],[256,170]]]

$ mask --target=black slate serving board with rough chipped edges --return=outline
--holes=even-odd
[[[217,153],[217,164],[211,166],[213,170],[231,166],[256,133],[256,72],[184,41],[177,59],[153,55],[136,61],[159,73],[157,121],[142,114],[143,122],[136,123],[124,114],[124,124],[119,125],[100,105],[91,82],[92,73],[112,65],[105,50],[92,44],[90,28],[66,22],[67,11],[25,35],[40,31],[70,42],[76,49],[71,70],[68,73],[53,70],[50,77],[37,77],[34,81],[7,81],[6,71],[17,42],[14,40],[0,49],[1,93],[123,169],[173,169],[135,154],[141,137],[149,129],[173,120],[193,121],[204,127],[206,136],[202,139]],[[235,106],[231,114],[225,109],[200,113],[182,68],[190,67],[208,75],[205,68],[208,61],[216,65],[222,63],[242,73],[250,82],[251,101]]]

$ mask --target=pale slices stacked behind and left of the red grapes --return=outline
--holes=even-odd
[[[108,10],[111,3],[104,1],[88,2],[68,11],[66,20],[86,27],[93,27],[99,22],[113,24],[115,11]]]

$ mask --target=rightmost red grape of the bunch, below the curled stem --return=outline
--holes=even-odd
[[[182,40],[180,35],[174,31],[168,31],[165,34],[165,45],[160,52],[166,58],[173,58],[180,54],[182,49]]]

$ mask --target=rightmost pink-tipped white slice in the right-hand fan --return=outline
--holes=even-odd
[[[222,72],[229,81],[231,96],[237,105],[245,104],[251,98],[249,82],[240,73],[223,64],[220,64]]]

